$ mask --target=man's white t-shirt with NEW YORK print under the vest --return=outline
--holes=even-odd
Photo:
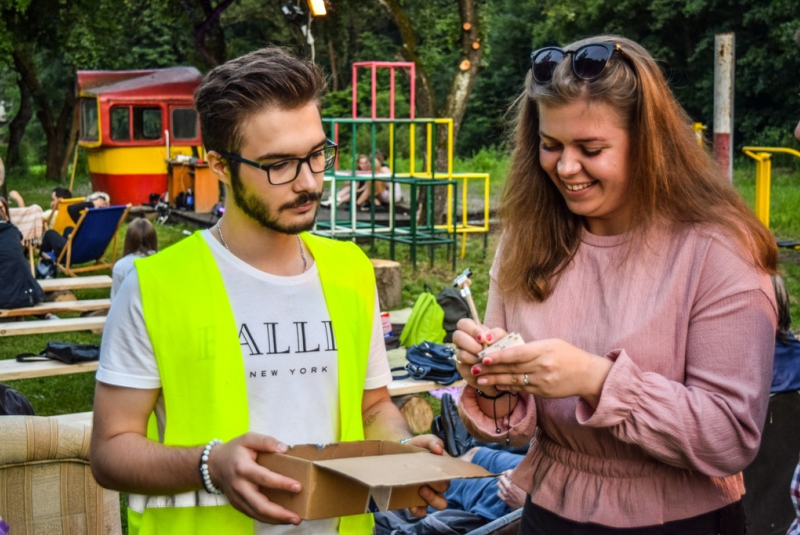
[[[239,330],[250,407],[250,431],[286,444],[326,444],[339,434],[336,344],[316,263],[302,275],[279,277],[260,271],[202,233],[217,262]],[[125,277],[108,314],[97,380],[129,388],[160,388],[161,379],[144,323],[139,277]],[[364,389],[392,380],[377,292]],[[168,415],[156,406],[159,429]],[[306,423],[305,425],[301,425]],[[255,532],[337,533],[337,519],[270,526]]]

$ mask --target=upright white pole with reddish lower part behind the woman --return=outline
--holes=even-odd
[[[733,33],[714,36],[714,156],[733,182],[733,87],[736,59]]]

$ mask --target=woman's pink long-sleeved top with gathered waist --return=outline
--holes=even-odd
[[[512,444],[532,438],[513,479],[533,502],[612,527],[688,518],[741,497],[766,416],[777,318],[769,277],[708,227],[661,226],[621,263],[627,240],[585,232],[547,301],[490,291],[485,319],[614,362],[596,410],[577,397],[520,396],[510,415]],[[471,387],[461,411],[476,436],[506,438]]]

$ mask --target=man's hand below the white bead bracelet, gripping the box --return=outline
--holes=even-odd
[[[286,453],[286,444],[258,433],[247,433],[211,449],[208,473],[211,482],[225,493],[231,505],[265,524],[299,524],[300,517],[271,502],[259,487],[300,492],[294,479],[276,474],[256,463],[260,452]]]

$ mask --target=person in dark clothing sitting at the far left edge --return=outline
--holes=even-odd
[[[44,292],[22,252],[22,233],[11,223],[8,202],[0,197],[0,308],[33,306]]]

